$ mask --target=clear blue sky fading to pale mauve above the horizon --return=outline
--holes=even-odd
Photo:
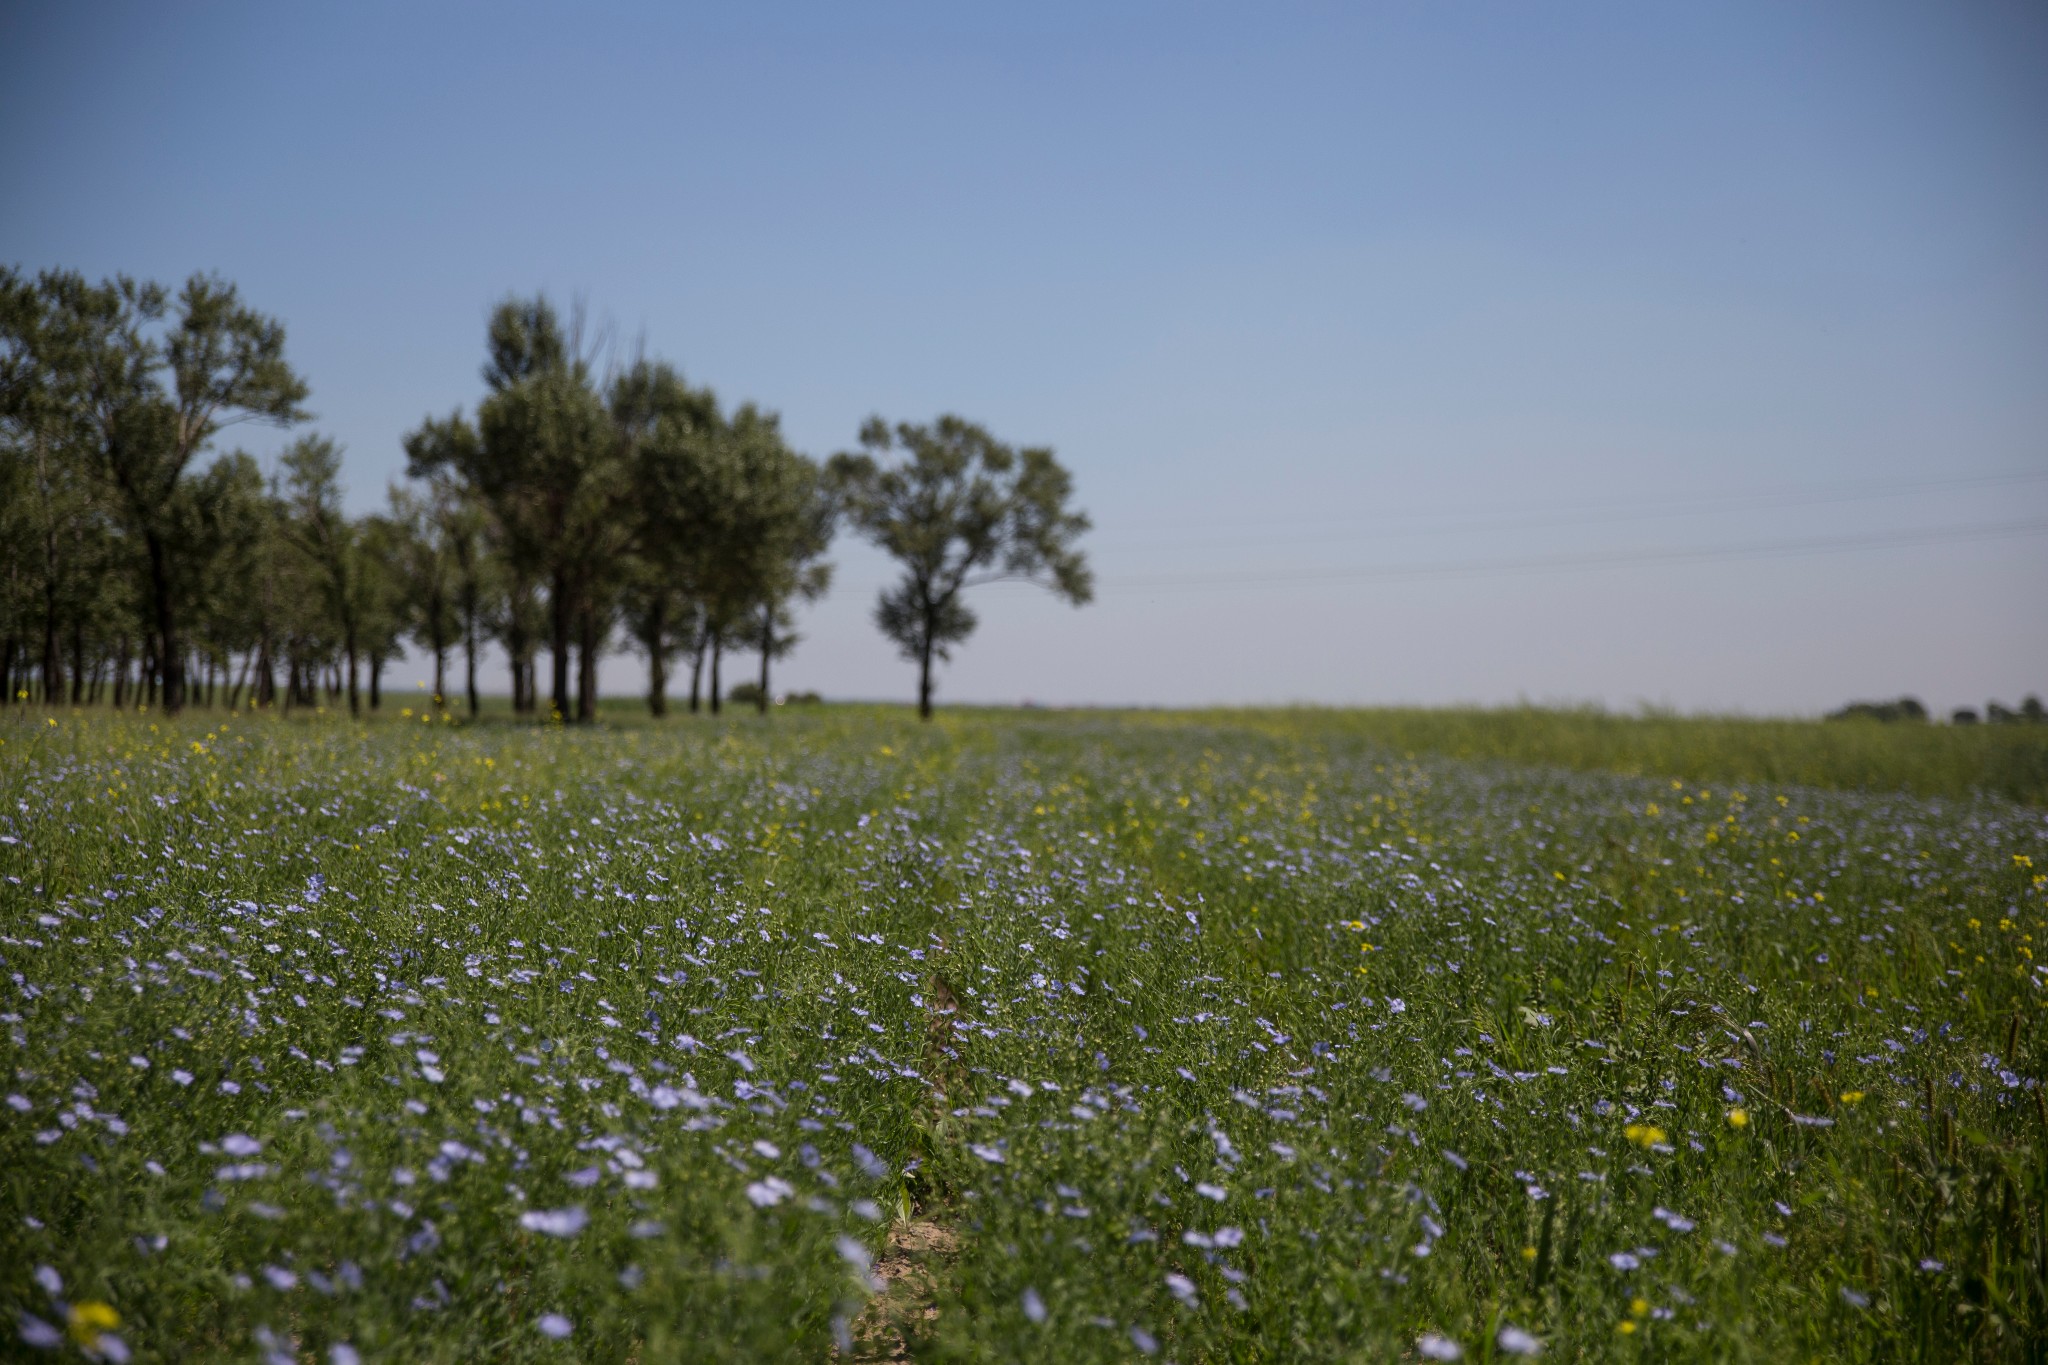
[[[2048,694],[2030,0],[6,6],[0,260],[236,280],[358,508],[510,291],[1051,444],[940,700]],[[836,559],[778,686],[909,696]]]

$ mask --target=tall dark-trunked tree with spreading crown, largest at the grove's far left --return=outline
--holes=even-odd
[[[233,284],[195,274],[172,303],[127,276],[88,284],[39,278],[43,319],[33,348],[57,403],[113,489],[113,508],[143,548],[164,708],[184,706],[186,645],[178,598],[190,571],[178,526],[193,458],[227,426],[305,417],[305,383],[285,362],[285,327],[242,305]],[[166,325],[158,325],[166,323]]]

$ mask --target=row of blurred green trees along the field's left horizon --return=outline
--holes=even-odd
[[[215,448],[309,422],[285,327],[233,284],[0,268],[0,698],[360,714],[412,647],[434,704],[475,714],[496,643],[518,714],[594,718],[621,647],[657,716],[678,665],[690,710],[717,712],[733,653],[756,655],[766,710],[844,526],[901,567],[874,620],[930,716],[936,663],[975,628],[967,589],[1090,600],[1087,518],[1051,450],[874,417],[821,463],[776,413],[608,352],[547,297],[506,299],[481,401],[408,432],[406,481],[350,516],[334,440],[299,436],[270,469]]]

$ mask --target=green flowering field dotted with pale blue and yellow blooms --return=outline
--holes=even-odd
[[[16,710],[0,1353],[2042,1359],[2042,747],[1640,724]]]

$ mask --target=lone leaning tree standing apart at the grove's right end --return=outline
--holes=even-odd
[[[831,487],[854,528],[903,565],[874,604],[874,624],[918,665],[918,714],[932,718],[932,659],[975,630],[961,593],[1022,579],[1081,606],[1094,575],[1075,540],[1087,516],[1067,508],[1073,479],[1047,448],[1012,450],[983,428],[868,417],[862,452],[831,456]],[[877,456],[903,450],[903,463]]]

